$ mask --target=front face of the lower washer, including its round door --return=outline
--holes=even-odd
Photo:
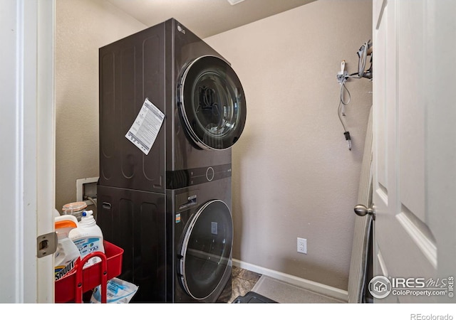
[[[231,178],[172,191],[174,302],[216,302],[231,289]]]

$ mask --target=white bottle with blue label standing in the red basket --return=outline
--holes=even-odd
[[[81,253],[81,259],[91,252],[105,252],[105,247],[103,246],[103,233],[92,214],[92,210],[83,211],[81,221],[78,223],[78,228],[71,230],[69,234],[69,238],[73,240]],[[100,261],[101,259],[99,257],[92,257],[83,268],[90,267],[90,265]]]

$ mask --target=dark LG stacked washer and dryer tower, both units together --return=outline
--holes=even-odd
[[[231,289],[232,151],[246,120],[227,60],[175,19],[99,50],[97,223],[124,250],[132,302],[216,302]],[[145,100],[150,151],[126,139]]]

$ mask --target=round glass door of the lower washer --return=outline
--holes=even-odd
[[[219,286],[231,257],[233,223],[223,201],[205,203],[185,233],[180,252],[182,286],[194,299],[205,299]]]

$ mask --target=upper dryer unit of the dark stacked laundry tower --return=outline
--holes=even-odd
[[[244,90],[185,26],[170,19],[104,46],[99,68],[100,185],[163,193],[187,185],[192,170],[231,164]],[[146,98],[165,114],[147,155],[125,139]]]

